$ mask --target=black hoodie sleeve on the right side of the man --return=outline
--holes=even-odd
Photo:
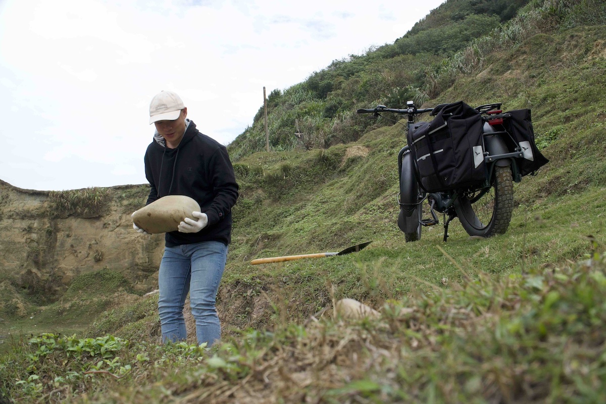
[[[220,147],[213,153],[209,166],[215,198],[205,213],[208,216],[208,224],[213,225],[230,213],[231,207],[238,200],[239,187],[225,147]]]

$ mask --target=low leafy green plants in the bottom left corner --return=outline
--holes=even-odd
[[[0,362],[0,398],[59,403],[112,380],[159,378],[156,369],[199,363],[205,345],[132,345],[112,335],[96,338],[42,333],[21,342]]]

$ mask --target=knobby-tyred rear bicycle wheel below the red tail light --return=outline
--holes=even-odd
[[[470,236],[505,233],[513,212],[511,168],[495,166],[490,187],[462,193],[454,200],[454,210]]]

